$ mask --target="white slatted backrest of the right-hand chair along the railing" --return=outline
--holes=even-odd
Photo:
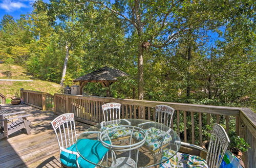
[[[174,114],[174,109],[167,105],[156,105],[156,119],[158,123],[162,123],[170,127]]]

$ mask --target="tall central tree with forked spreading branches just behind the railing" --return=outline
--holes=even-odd
[[[232,2],[209,1],[91,1],[74,6],[96,4],[95,9],[105,8],[115,13],[132,32],[137,45],[138,97],[143,99],[143,57],[149,47],[164,48],[191,29],[216,29],[227,17]],[[190,19],[186,15],[192,14]]]

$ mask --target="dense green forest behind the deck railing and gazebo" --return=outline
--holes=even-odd
[[[136,2],[36,1],[1,19],[0,60],[57,83],[66,60],[63,86],[117,68],[130,76],[113,97],[255,109],[253,1]],[[84,92],[105,96],[99,83]]]

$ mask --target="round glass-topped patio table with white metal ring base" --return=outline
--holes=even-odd
[[[157,139],[152,138],[152,132],[148,130],[160,130],[160,132],[157,132]],[[117,136],[117,134],[121,136]],[[140,135],[142,135],[142,137],[139,137]],[[168,137],[167,139],[166,136]],[[101,160],[88,158],[88,156],[82,152],[82,139],[85,138],[100,141],[104,147],[109,149],[109,152],[107,152]],[[160,142],[158,143],[157,150],[154,149],[154,145],[151,147],[150,144],[155,141]],[[136,145],[136,149],[133,148]],[[115,148],[112,148],[112,146],[120,147],[120,149],[126,147],[126,150],[115,151]],[[127,150],[129,147],[131,150]],[[113,159],[119,159],[120,161],[121,158],[129,158],[126,159],[126,161],[137,161],[136,164],[118,164],[116,167],[151,167],[159,165],[176,155],[180,149],[180,137],[173,129],[157,122],[142,119],[120,119],[103,122],[87,129],[86,132],[83,132],[77,138],[76,149],[84,160],[87,160],[95,166],[115,167],[116,161]],[[132,149],[135,150],[133,151]],[[114,153],[112,152],[113,150]],[[172,154],[163,157],[163,150],[168,150],[169,153]],[[122,162],[124,161],[125,159],[122,160]]]

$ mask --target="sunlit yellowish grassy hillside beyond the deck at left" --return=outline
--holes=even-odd
[[[0,93],[4,94],[7,98],[15,95],[16,91],[20,88],[25,90],[41,91],[50,94],[59,93],[60,86],[58,83],[35,79],[32,75],[28,74],[23,67],[12,65],[12,77],[6,76],[8,68],[4,64],[0,64],[0,79],[29,79],[34,81],[0,81]]]

